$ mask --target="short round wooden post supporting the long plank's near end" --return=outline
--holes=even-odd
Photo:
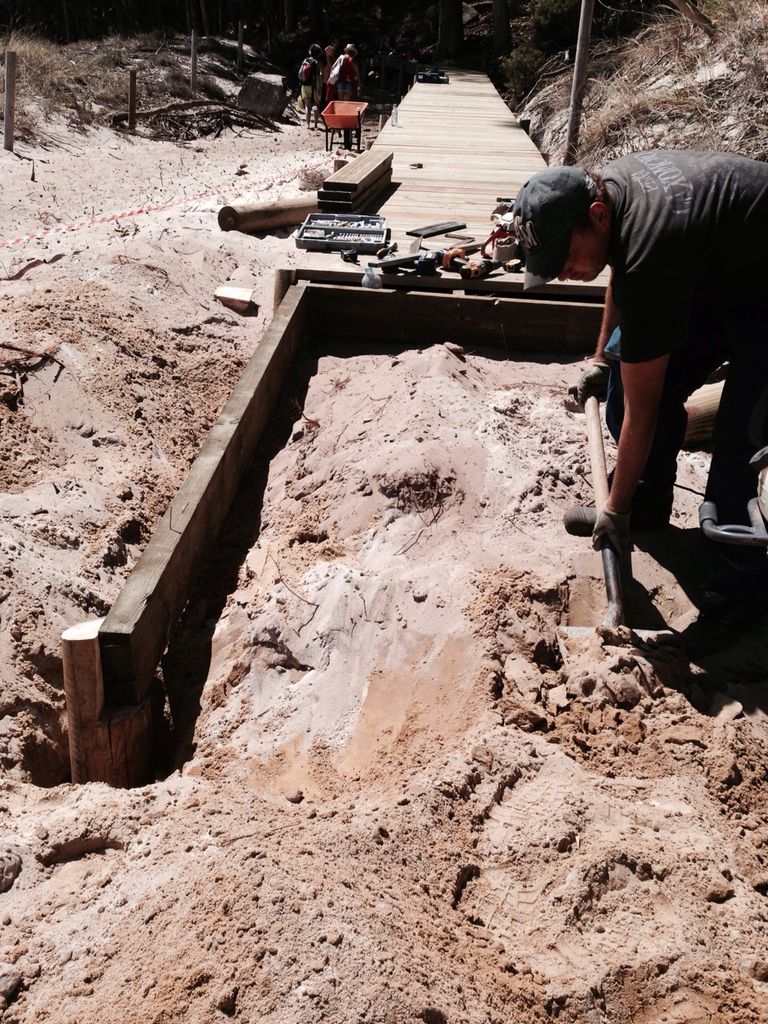
[[[152,709],[104,707],[98,630],[92,618],[61,634],[73,782],[128,787],[152,781]]]

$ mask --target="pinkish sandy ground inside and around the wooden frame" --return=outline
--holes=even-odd
[[[330,158],[292,127],[26,156],[0,242],[173,205],[0,248],[2,1020],[768,1021],[766,644],[563,632],[602,605],[560,526],[591,494],[567,362],[304,352],[163,665],[167,773],[67,782],[60,631],[114,600],[297,258],[215,212]],[[637,538],[638,627],[694,614],[706,468]]]

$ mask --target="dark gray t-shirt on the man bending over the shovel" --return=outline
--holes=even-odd
[[[602,177],[625,361],[686,344],[693,309],[768,313],[768,164],[653,150],[612,161]]]

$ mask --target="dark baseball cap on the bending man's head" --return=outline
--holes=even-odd
[[[595,182],[581,167],[548,167],[518,191],[514,229],[525,252],[525,289],[562,273],[570,234],[587,217],[596,195]]]

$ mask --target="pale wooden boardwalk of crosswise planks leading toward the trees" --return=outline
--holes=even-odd
[[[513,197],[537,171],[544,158],[502,97],[482,74],[451,71],[447,85],[417,83],[398,106],[398,124],[385,124],[374,150],[391,151],[392,185],[366,208],[387,218],[398,255],[408,253],[414,227],[461,220],[460,233],[484,241],[493,229],[490,214],[499,198]],[[427,242],[440,248],[442,239]],[[460,243],[456,243],[459,245]],[[365,256],[360,263],[365,263]],[[338,284],[359,282],[360,271],[336,253],[307,252],[297,268],[299,280]],[[597,297],[607,274],[589,285],[554,283],[548,294]],[[413,279],[390,275],[387,285],[413,287]],[[466,283],[458,274],[420,278],[427,290],[517,293],[522,275],[497,271],[492,278]]]

